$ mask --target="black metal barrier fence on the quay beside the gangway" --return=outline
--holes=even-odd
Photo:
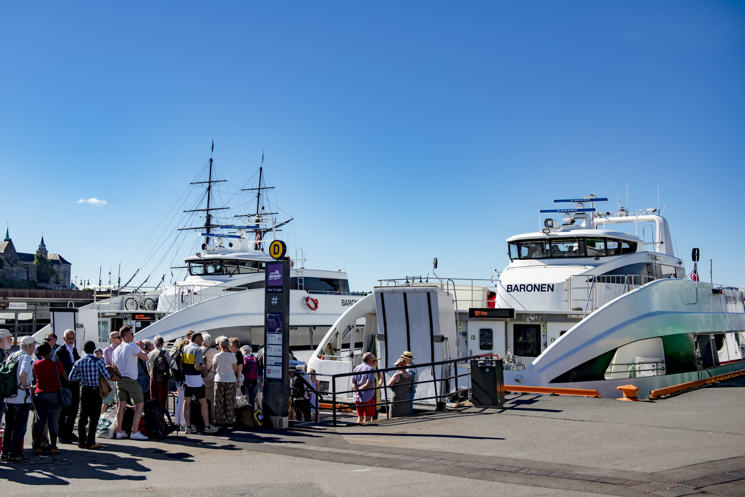
[[[383,390],[383,393],[384,393],[384,397],[385,397],[385,402],[375,402],[373,404],[368,404],[368,405],[375,405],[375,407],[377,407],[378,405],[385,405],[386,406],[386,408],[385,408],[386,413],[390,416],[390,405],[393,404],[393,401],[390,401],[388,399],[388,387],[387,387],[386,384],[384,384],[385,383],[385,373],[389,373],[391,371],[398,371],[398,370],[402,370],[402,369],[416,370],[418,372],[419,370],[422,370],[422,368],[431,368],[432,369],[432,379],[423,380],[421,382],[411,382],[409,384],[412,385],[412,384],[432,383],[434,385],[434,396],[419,397],[417,399],[405,399],[405,400],[399,400],[399,401],[396,401],[396,402],[414,402],[414,400],[416,400],[416,401],[422,401],[422,400],[431,400],[431,399],[434,399],[435,400],[435,408],[437,408],[437,403],[440,402],[439,399],[443,399],[445,397],[448,397],[448,396],[451,396],[451,395],[454,395],[454,394],[457,394],[458,396],[460,396],[460,392],[462,392],[464,390],[467,392],[469,390],[469,387],[466,387],[466,388],[460,388],[460,387],[458,387],[458,378],[468,377],[471,374],[470,373],[470,370],[469,370],[469,367],[467,367],[467,365],[465,365],[465,364],[462,365],[461,367],[463,368],[464,371],[466,371],[466,373],[458,374],[458,363],[459,362],[470,361],[471,359],[478,359],[479,357],[481,357],[481,356],[480,355],[471,355],[469,357],[464,357],[464,358],[448,359],[447,361],[428,362],[428,363],[425,363],[425,364],[411,364],[410,367],[401,367],[401,366],[398,366],[398,367],[388,367],[388,368],[382,369],[382,370],[378,370],[378,369],[370,370],[371,372],[373,372],[375,374],[381,373],[381,381],[382,381],[383,384],[381,384],[378,387],[358,388],[357,390],[344,390],[344,391],[340,391],[340,392],[337,392],[336,391],[336,379],[337,378],[349,378],[351,376],[357,376],[358,374],[363,374],[363,373],[355,373],[354,371],[352,371],[352,373],[337,373],[337,374],[334,374],[334,375],[323,374],[323,373],[316,373],[316,374],[317,374],[317,376],[330,376],[331,377],[333,425],[336,426],[336,422],[337,422],[337,420],[336,420],[336,411],[337,411],[337,408],[336,408],[337,402],[336,402],[336,400],[337,400],[337,395],[340,395],[340,394],[343,394],[343,393],[354,393],[354,392],[363,392],[363,391],[367,391],[367,390],[381,390],[382,389]],[[453,376],[446,376],[446,377],[437,378],[437,374],[436,374],[434,368],[437,367],[437,366],[449,366],[451,364],[454,366],[454,370],[455,370],[454,375]],[[437,393],[437,383],[438,382],[445,383],[446,385],[448,385],[449,384],[449,381],[450,380],[453,380],[453,379],[455,380],[455,387],[454,387],[454,389],[451,388],[451,387],[446,387],[446,390],[448,390],[448,391],[447,392],[444,392],[443,391],[444,389],[441,387],[440,388],[440,393]],[[448,383],[446,383],[446,382],[448,382]],[[450,391],[450,390],[453,390],[453,391]],[[328,394],[328,393],[329,392],[326,392],[326,394]],[[318,393],[316,395],[316,398],[318,398]]]

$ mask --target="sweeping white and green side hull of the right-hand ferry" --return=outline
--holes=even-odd
[[[539,311],[533,313],[533,316]],[[542,316],[551,319],[551,311]],[[583,388],[618,398],[745,369],[743,292],[683,279],[635,288],[560,335],[506,384]]]

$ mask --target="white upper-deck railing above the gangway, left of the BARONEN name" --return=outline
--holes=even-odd
[[[378,286],[437,286],[442,291],[453,292],[455,310],[469,308],[493,308],[495,300],[489,300],[489,291],[496,293],[499,273],[493,279],[440,278],[437,276],[405,276],[404,278],[378,279]],[[493,288],[493,290],[492,290]]]

